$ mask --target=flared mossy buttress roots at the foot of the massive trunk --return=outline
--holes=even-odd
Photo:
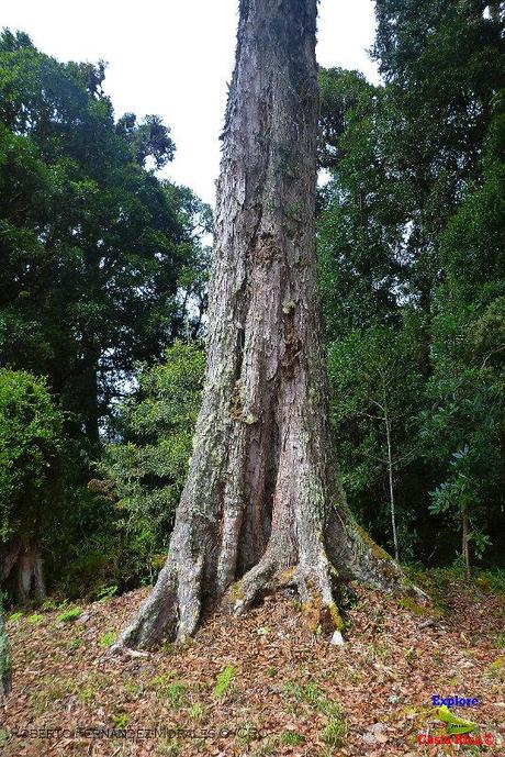
[[[217,606],[222,612],[240,615],[266,595],[287,588],[296,591],[311,627],[328,639],[344,630],[335,598],[346,581],[357,579],[394,593],[415,591],[418,599],[427,599],[420,590],[408,585],[399,565],[350,520],[347,512],[346,521],[344,545],[336,539],[339,548],[335,545],[332,548],[332,539],[327,539],[328,546],[321,542],[317,549],[301,554],[301,559],[293,565],[288,561],[290,555],[276,549],[271,542],[257,565],[228,586],[221,597],[209,591],[205,585],[203,556],[195,559],[188,554],[187,548],[182,548],[184,545],[178,544],[176,532],[156,586],[112,652],[150,649],[162,641],[183,643],[198,630],[204,606]],[[333,525],[336,528],[336,522]]]

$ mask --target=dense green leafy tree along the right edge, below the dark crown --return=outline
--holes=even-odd
[[[441,237],[447,271],[434,303],[423,416],[425,455],[437,470],[431,510],[456,515],[470,575],[470,545],[482,556],[503,508],[505,387],[505,115],[490,126],[483,181]],[[500,527],[500,526],[498,526]]]

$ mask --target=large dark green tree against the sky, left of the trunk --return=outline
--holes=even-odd
[[[104,73],[0,36],[0,359],[47,376],[94,454],[135,363],[186,322],[179,278],[200,265],[204,213],[148,169],[173,156],[160,120],[114,123]]]

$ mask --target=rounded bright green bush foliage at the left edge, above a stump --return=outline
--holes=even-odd
[[[44,379],[0,368],[0,545],[37,541],[54,523],[63,424]]]

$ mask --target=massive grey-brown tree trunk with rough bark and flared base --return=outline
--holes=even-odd
[[[117,646],[183,639],[216,600],[399,586],[335,479],[315,259],[316,0],[240,0],[224,129],[203,405],[167,563]],[[338,572],[337,572],[338,571]]]

